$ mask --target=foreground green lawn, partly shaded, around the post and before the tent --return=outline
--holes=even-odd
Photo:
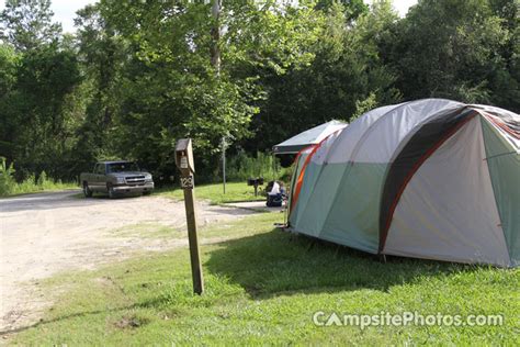
[[[201,189],[202,190],[202,189]],[[273,230],[276,213],[207,227],[201,237],[206,293],[193,295],[186,249],[70,272],[23,345],[519,345],[520,270],[391,258]],[[504,326],[320,327],[313,313],[504,314]]]

